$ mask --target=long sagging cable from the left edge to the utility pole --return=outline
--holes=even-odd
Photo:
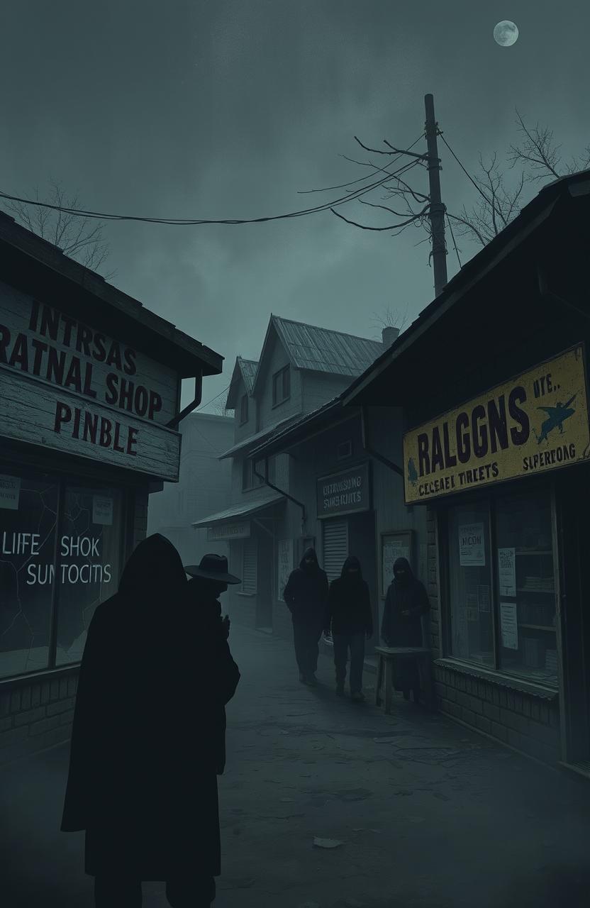
[[[381,177],[379,180],[376,180],[374,183],[369,183],[368,186],[359,187],[359,190],[354,192],[349,192],[345,196],[341,196],[339,199],[336,199],[333,202],[324,202],[321,205],[316,205],[312,208],[302,209],[296,212],[288,212],[286,214],[274,214],[267,217],[261,218],[223,218],[223,219],[208,219],[208,218],[195,218],[195,219],[182,219],[182,218],[146,218],[140,217],[133,214],[109,214],[106,212],[93,212],[87,211],[80,208],[67,208],[63,205],[54,205],[50,202],[34,202],[32,199],[23,199],[16,195],[10,195],[7,192],[0,192],[0,198],[8,199],[11,202],[21,202],[25,205],[36,205],[40,208],[49,208],[53,211],[64,212],[65,214],[72,214],[79,217],[85,218],[96,218],[101,221],[139,221],[146,223],[162,223],[162,224],[177,224],[182,226],[187,225],[197,225],[197,224],[247,224],[247,223],[263,223],[269,221],[283,221],[288,218],[297,218],[303,217],[307,214],[316,214],[319,212],[326,212],[332,208],[347,204],[348,202],[353,202],[355,199],[359,199],[362,195],[365,195],[368,192],[371,192],[373,189],[377,189],[383,183],[388,183],[389,180],[396,177],[398,173],[404,173],[410,167],[416,165],[417,162],[412,162],[409,164],[404,164],[397,171],[393,173],[387,173],[386,176]],[[365,178],[367,179],[367,178]]]

